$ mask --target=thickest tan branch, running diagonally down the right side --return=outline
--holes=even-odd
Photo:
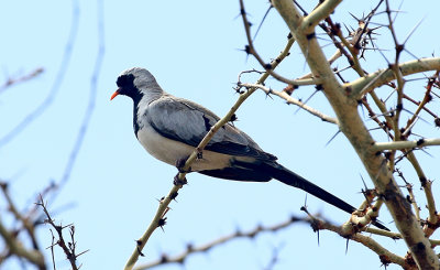
[[[358,112],[358,100],[361,99],[359,91],[370,83],[365,78],[372,79],[372,76],[360,78],[356,85],[345,84],[344,89],[334,78],[334,75],[328,65],[326,56],[315,36],[309,36],[299,25],[302,17],[288,0],[274,0],[274,7],[279,12],[289,30],[295,33],[296,42],[306,55],[307,63],[316,77],[326,78],[322,80],[322,90],[330,101],[339,120],[340,130],[350,140],[353,148],[361,158],[366,171],[374,182],[377,193],[384,197],[384,201],[396,223],[398,230],[404,237],[413,258],[418,266],[427,269],[438,269],[440,266],[437,255],[430,248],[429,240],[425,237],[419,227],[418,220],[410,210],[410,204],[406,201],[397,186],[392,172],[386,166],[386,160],[377,155],[372,145],[374,140],[365,128]],[[411,63],[400,64],[403,75],[415,69],[429,68],[429,64],[440,66],[440,60],[420,60]],[[437,69],[437,68],[436,68]],[[378,72],[381,73],[381,72]],[[375,75],[377,76],[376,73]],[[393,72],[386,72],[382,77],[394,76]],[[389,80],[378,79],[378,83],[388,83]],[[377,83],[374,84],[377,87]],[[351,87],[348,87],[351,86]],[[356,88],[354,87],[356,86]],[[354,89],[355,88],[355,89]],[[354,89],[354,90],[353,90]],[[355,93],[353,95],[353,93]],[[355,98],[353,98],[355,97]],[[395,129],[394,129],[395,130]]]

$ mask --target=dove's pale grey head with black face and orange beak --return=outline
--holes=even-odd
[[[161,89],[154,76],[142,67],[132,67],[123,71],[117,79],[117,85],[118,89],[111,95],[110,100],[118,95],[140,100],[148,91]]]

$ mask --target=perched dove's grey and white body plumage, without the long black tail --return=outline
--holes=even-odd
[[[170,165],[187,158],[220,119],[196,102],[165,93],[144,68],[130,68],[118,82],[119,94],[134,101],[133,126],[138,140],[153,156]],[[219,170],[230,165],[231,155],[249,162],[276,160],[248,134],[227,123],[206,147],[204,159],[196,160],[191,169],[197,172]]]

